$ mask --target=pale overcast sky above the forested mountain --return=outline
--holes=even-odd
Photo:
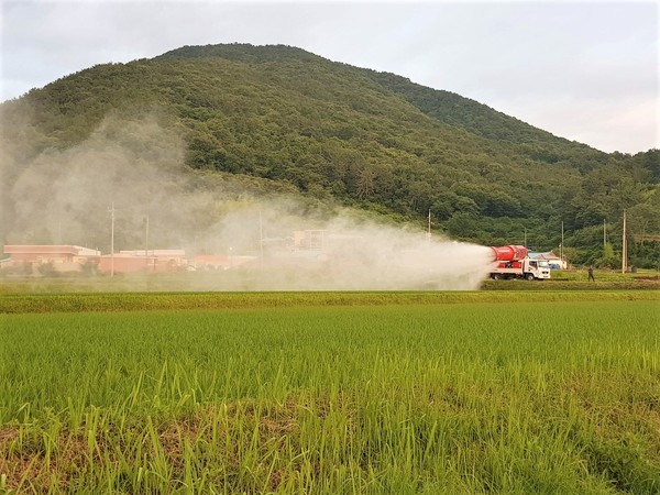
[[[183,45],[286,44],[606,152],[660,147],[660,0],[0,1],[0,100]]]

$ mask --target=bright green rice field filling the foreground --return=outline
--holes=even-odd
[[[657,290],[4,294],[0,342],[0,493],[660,493]]]

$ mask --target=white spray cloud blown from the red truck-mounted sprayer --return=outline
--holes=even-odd
[[[116,250],[186,250],[182,289],[474,289],[486,276],[486,248],[196,173],[184,153],[153,117],[108,118],[84,143],[28,161],[4,153],[3,243],[109,253],[113,205]]]

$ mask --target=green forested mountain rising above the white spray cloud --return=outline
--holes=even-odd
[[[487,245],[561,242],[575,263],[660,246],[660,154],[606,154],[459,95],[288,46],[185,46],[97,65],[0,106],[4,187],[89,139],[109,114],[156,116],[205,176],[372,210]],[[255,186],[257,184],[257,186]],[[10,195],[3,195],[6,198]],[[15,207],[3,199],[6,217]],[[603,226],[610,246],[603,244]],[[656,238],[653,238],[656,235]],[[3,240],[3,242],[8,242]]]

